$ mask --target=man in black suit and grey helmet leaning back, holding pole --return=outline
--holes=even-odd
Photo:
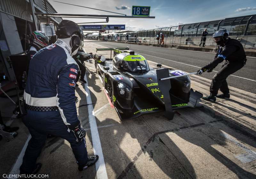
[[[226,79],[229,75],[244,67],[246,63],[246,55],[242,44],[236,39],[230,39],[226,29],[221,29],[215,32],[212,37],[214,38],[215,43],[219,45],[218,51],[216,52],[213,61],[198,70],[197,74],[201,75],[205,71],[211,72],[213,68],[224,61],[220,70],[212,78],[210,96],[203,97],[204,100],[215,102],[216,97],[230,97]],[[217,95],[219,89],[223,94]]]

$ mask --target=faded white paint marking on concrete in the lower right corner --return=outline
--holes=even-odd
[[[224,132],[224,131],[221,131],[221,132],[222,132],[221,133],[222,136],[224,136],[226,139],[228,139],[229,141],[233,142],[236,146],[238,146],[239,148],[242,148],[246,152],[244,154],[236,155],[235,157],[238,160],[240,160],[243,163],[248,163],[248,162],[256,160],[256,152],[254,152],[251,149],[249,149],[248,147],[244,146],[238,140],[234,139],[233,137],[231,137],[226,132]]]

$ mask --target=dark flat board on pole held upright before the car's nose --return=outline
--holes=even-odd
[[[172,120],[174,117],[174,111],[172,111],[172,102],[169,91],[171,90],[171,83],[169,80],[160,80],[169,76],[168,68],[159,68],[156,70],[157,82],[160,91],[162,91],[164,95],[164,106],[165,106],[165,114],[164,116],[168,120]]]

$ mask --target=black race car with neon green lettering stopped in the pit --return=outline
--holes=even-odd
[[[173,110],[201,106],[198,102],[201,102],[200,98],[203,95],[190,89],[188,75],[166,80],[172,88],[167,90],[165,98],[158,86],[157,70],[149,67],[142,55],[128,49],[129,47],[97,49],[97,51],[113,50],[113,59],[111,57],[106,59],[102,55],[94,56],[97,74],[121,120],[167,110],[170,113],[166,113],[165,116],[171,120],[174,115]],[[161,68],[161,64],[157,66]],[[168,70],[169,76],[186,74],[177,69]],[[165,86],[161,89],[165,89]],[[168,97],[170,106],[164,103],[168,101]]]

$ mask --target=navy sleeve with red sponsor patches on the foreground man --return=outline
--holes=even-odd
[[[77,118],[75,103],[76,75],[78,67],[69,64],[61,69],[57,83],[57,106],[61,118],[69,129],[74,129],[80,124]]]

